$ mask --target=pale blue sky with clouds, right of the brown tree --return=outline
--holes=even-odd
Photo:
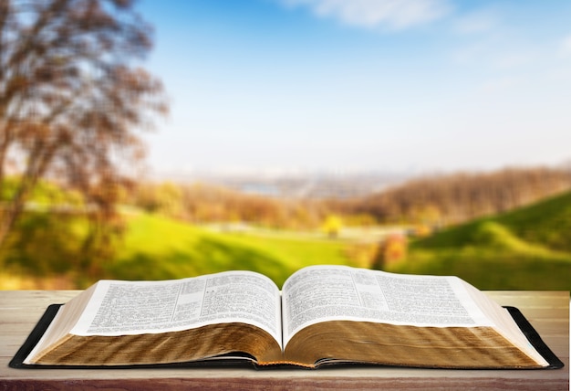
[[[571,1],[142,0],[155,173],[571,162]]]

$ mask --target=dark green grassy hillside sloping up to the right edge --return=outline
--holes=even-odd
[[[571,290],[571,193],[410,244],[396,272],[452,274],[487,290]]]

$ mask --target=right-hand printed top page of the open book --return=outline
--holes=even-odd
[[[345,266],[300,269],[282,290],[284,345],[317,322],[413,326],[493,325],[456,277],[415,276]]]

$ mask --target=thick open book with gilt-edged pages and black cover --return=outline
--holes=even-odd
[[[229,358],[256,366],[562,365],[545,360],[506,309],[459,278],[344,266],[300,269],[282,291],[251,271],[183,280],[100,280],[59,306],[42,332],[23,366]]]

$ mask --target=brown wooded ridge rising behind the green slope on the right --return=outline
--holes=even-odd
[[[564,168],[506,168],[490,173],[426,176],[347,206],[382,222],[458,223],[502,213],[571,188]]]

